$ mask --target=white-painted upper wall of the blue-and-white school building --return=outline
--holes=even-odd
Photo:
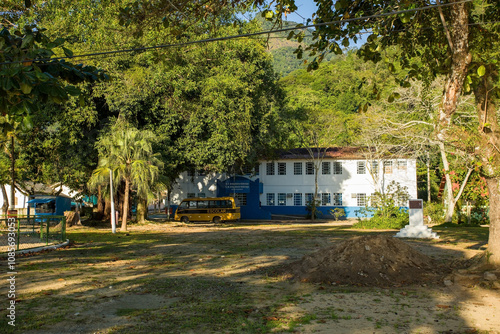
[[[397,159],[387,160],[392,161],[392,173],[383,173],[384,162],[378,162],[378,180],[374,181],[372,174],[369,172],[371,165],[365,160],[334,160],[325,159],[325,162],[330,162],[330,174],[323,175],[322,166],[320,166],[318,174],[318,193],[341,193],[343,206],[357,206],[357,198],[352,194],[363,193],[368,198],[374,192],[387,188],[391,181],[397,181],[402,186],[408,188],[410,198],[417,198],[417,168],[415,159],[402,160],[406,161],[406,169],[398,168]],[[342,174],[333,174],[333,161],[342,162]],[[358,174],[358,161],[364,161],[366,165],[366,173]],[[278,193],[301,193],[302,205],[305,205],[305,194],[314,193],[314,175],[306,175],[306,160],[279,160],[274,161],[274,175],[267,175],[266,164],[268,161],[260,163],[259,175],[249,177],[252,180],[259,178],[259,181],[264,185],[263,194],[260,195],[262,205],[266,205],[266,194],[274,193],[275,201],[277,202]],[[286,164],[286,175],[278,175],[278,162]],[[302,175],[294,175],[294,163],[302,163]],[[173,188],[171,203],[178,205],[184,198],[188,197],[189,193],[198,196],[204,193],[205,197],[215,197],[217,194],[216,180],[226,180],[226,174],[208,173],[200,176],[198,172],[194,176],[188,176],[184,172],[177,179],[177,183]],[[276,203],[277,204],[277,203]],[[292,206],[293,197],[287,197],[286,205]]]

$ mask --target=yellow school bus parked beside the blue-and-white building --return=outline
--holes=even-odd
[[[232,197],[186,198],[175,211],[174,220],[211,221],[219,224],[223,221],[240,219],[240,207]]]

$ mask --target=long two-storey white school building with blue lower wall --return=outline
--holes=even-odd
[[[311,154],[312,153],[312,154]],[[417,166],[414,158],[377,157],[355,147],[321,150],[292,149],[263,160],[243,175],[184,172],[171,194],[176,206],[188,197],[233,196],[241,206],[242,219],[273,216],[304,217],[306,204],[314,198],[317,172],[319,210],[342,208],[347,218],[368,204],[369,197],[392,181],[417,198]]]

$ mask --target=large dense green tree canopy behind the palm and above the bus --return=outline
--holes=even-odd
[[[52,34],[47,38],[66,37],[64,46],[70,45],[74,54],[175,44],[258,29],[255,22],[230,24],[238,8],[219,6],[214,11],[220,16],[204,11],[210,18],[200,20],[172,16],[170,10],[152,6],[146,15],[150,19],[145,20],[141,16],[145,8],[135,5],[81,0],[75,8],[71,2],[48,2],[36,10],[19,11],[16,24],[28,27],[36,21]],[[196,11],[188,7],[184,9]],[[152,12],[165,15],[160,29],[159,22],[153,21],[162,17],[151,16]],[[177,19],[182,24],[174,24]],[[45,108],[46,119],[35,120],[36,131],[29,134],[31,142],[26,142],[30,153],[23,154],[24,177],[47,183],[78,181],[71,185],[81,188],[82,179],[88,179],[97,164],[96,138],[108,119],[117,116],[138,130],[154,133],[152,149],[163,161],[159,172],[165,185],[171,186],[179,172],[190,166],[224,171],[235,163],[254,161],[257,154],[281,146],[286,138],[281,120],[284,92],[263,45],[259,40],[233,40],[84,58],[105,69],[113,80],[79,85],[86,94],[70,96],[63,108]],[[57,55],[69,52],[54,50]]]

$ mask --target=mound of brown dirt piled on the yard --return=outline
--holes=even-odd
[[[302,282],[400,286],[433,281],[442,270],[430,257],[388,236],[356,237],[304,256],[281,271]]]

